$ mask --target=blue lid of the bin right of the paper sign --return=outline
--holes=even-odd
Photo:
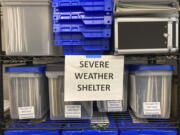
[[[173,71],[173,65],[131,65],[130,71],[145,71],[145,70],[167,70]]]

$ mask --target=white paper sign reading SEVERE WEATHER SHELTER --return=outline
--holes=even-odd
[[[66,56],[65,101],[122,100],[123,56]]]

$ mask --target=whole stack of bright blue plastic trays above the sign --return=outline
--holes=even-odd
[[[54,44],[64,55],[102,54],[110,49],[112,0],[53,0]]]

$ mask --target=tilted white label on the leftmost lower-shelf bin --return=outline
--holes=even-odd
[[[34,106],[18,107],[19,119],[34,119]]]

